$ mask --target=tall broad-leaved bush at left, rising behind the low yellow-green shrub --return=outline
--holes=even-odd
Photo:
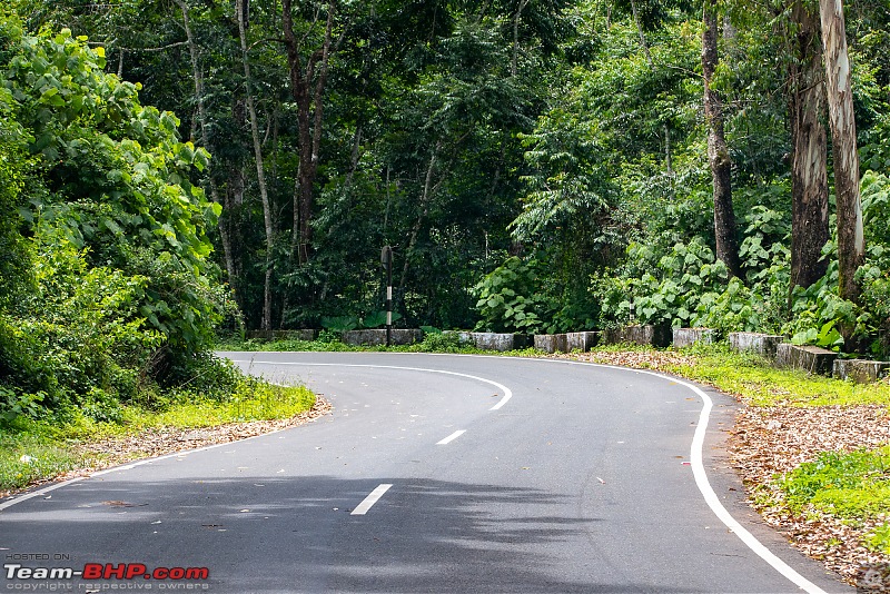
[[[18,142],[18,151],[9,154],[22,152],[29,164],[27,179],[11,176],[13,186],[28,191],[27,200],[19,200],[22,226],[44,242],[63,241],[85,250],[86,268],[105,270],[95,278],[86,268],[78,273],[86,280],[82,298],[90,298],[88,288],[101,293],[103,276],[112,288],[101,297],[122,300],[103,303],[100,309],[136,310],[88,337],[115,343],[126,357],[141,348],[139,328],[146,324],[164,344],[159,355],[166,362],[155,367],[164,375],[210,347],[212,326],[225,309],[206,234],[220,207],[190,180],[207,167],[209,155],[180,141],[176,116],[142,106],[139,85],[105,72],[101,47],[90,48],[86,38],[75,38],[67,29],[30,36],[11,18],[3,18],[1,33],[6,63],[0,65],[0,92],[9,106],[3,116],[20,127],[6,135]],[[55,290],[71,289],[59,285]],[[136,331],[130,333],[128,324]],[[65,334],[43,330],[59,340]],[[137,344],[125,345],[127,335]],[[100,345],[96,353],[106,350]],[[56,363],[66,374],[66,362]],[[87,359],[83,365],[95,363]],[[86,390],[83,385],[72,388]]]

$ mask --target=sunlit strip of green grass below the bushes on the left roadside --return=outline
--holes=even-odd
[[[78,447],[105,437],[137,435],[148,428],[200,428],[289,418],[308,410],[315,395],[301,386],[276,386],[245,378],[227,398],[182,393],[160,409],[121,406],[118,422],[97,422],[78,410],[63,420],[19,418],[0,427],[0,492],[49,481],[82,468],[101,456],[87,457]]]

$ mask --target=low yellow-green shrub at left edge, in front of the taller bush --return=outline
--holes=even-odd
[[[36,403],[75,405],[110,418],[162,340],[137,311],[146,279],[89,267],[86,250],[52,230],[33,242],[37,290],[0,313],[0,410],[11,420],[38,416]]]

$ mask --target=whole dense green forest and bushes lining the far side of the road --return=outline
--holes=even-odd
[[[0,414],[217,333],[781,333],[890,355],[890,9],[12,0]],[[101,408],[101,407],[100,407]]]

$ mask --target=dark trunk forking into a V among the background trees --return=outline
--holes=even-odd
[[[290,72],[290,95],[297,105],[297,140],[299,142],[299,165],[297,187],[294,192],[294,230],[291,249],[297,251],[300,264],[309,260],[313,219],[313,186],[318,172],[318,155],[322,143],[322,122],[324,116],[323,98],[327,86],[327,69],[332,49],[335,2],[328,6],[325,38],[322,48],[306,60],[304,71],[300,57],[300,42],[294,34],[291,0],[281,1],[281,26],[287,48],[287,63]],[[316,76],[316,67],[318,73]],[[315,83],[315,88],[313,88]]]

